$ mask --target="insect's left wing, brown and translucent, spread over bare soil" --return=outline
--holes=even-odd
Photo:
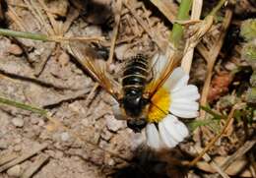
[[[106,63],[98,59],[94,48],[81,42],[70,42],[68,44],[68,50],[84,69],[89,72],[91,77],[96,80],[99,86],[118,100],[120,85],[106,71]]]

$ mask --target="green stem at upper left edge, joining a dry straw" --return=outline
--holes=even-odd
[[[42,40],[42,41],[49,40],[46,34],[24,32],[24,31],[17,31],[17,30],[0,29],[0,35],[23,37],[23,38],[34,39],[34,40]]]

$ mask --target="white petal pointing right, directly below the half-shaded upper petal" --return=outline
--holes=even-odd
[[[176,89],[171,91],[171,99],[188,99],[188,100],[197,100],[199,99],[200,94],[196,86],[188,85],[182,87],[181,89]]]

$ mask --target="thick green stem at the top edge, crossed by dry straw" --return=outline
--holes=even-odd
[[[189,18],[189,10],[191,8],[191,5],[192,5],[192,0],[181,0],[176,20],[178,21],[187,20]],[[175,23],[172,28],[170,40],[173,42],[176,48],[178,47],[178,44],[180,39],[182,38],[182,35],[183,35],[183,27]]]

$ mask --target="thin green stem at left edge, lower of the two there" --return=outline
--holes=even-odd
[[[17,102],[17,101],[7,99],[7,98],[1,97],[1,96],[0,96],[0,103],[11,105],[11,106],[14,106],[14,107],[17,107],[17,108],[20,108],[20,109],[29,110],[29,111],[32,111],[34,113],[40,114],[42,116],[45,116],[47,114],[47,111],[44,110],[44,109],[33,107],[31,105],[28,105],[28,104],[25,104],[25,103],[22,103],[22,102]]]

